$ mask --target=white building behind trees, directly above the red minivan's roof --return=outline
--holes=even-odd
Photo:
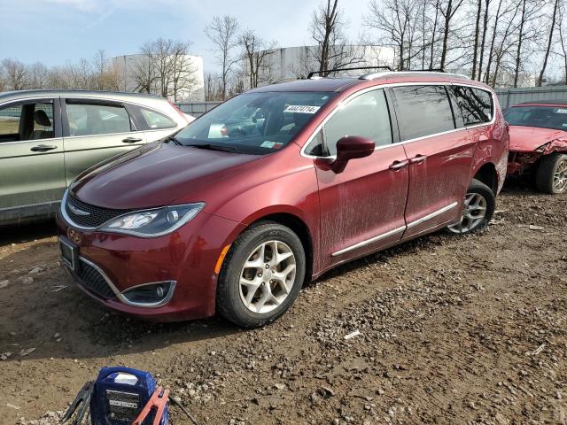
[[[340,55],[338,51],[333,52],[336,56],[341,57],[341,64],[353,62],[344,67],[393,66],[394,63],[394,50],[389,47],[347,45],[335,49],[342,49]],[[258,85],[263,86],[285,79],[305,78],[311,71],[319,70],[316,60],[317,51],[318,46],[284,47],[260,51],[260,57],[263,54],[266,56],[259,69]],[[330,67],[334,66],[332,59],[330,62]],[[247,58],[243,60],[243,69],[244,89],[250,89],[250,64]]]

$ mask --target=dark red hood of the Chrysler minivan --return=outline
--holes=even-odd
[[[87,170],[70,192],[85,204],[105,208],[170,205],[189,191],[197,193],[204,186],[229,178],[231,170],[258,158],[261,157],[151,143]]]

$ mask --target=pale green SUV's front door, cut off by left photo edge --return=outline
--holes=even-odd
[[[66,187],[63,156],[58,99],[0,106],[0,220],[57,210]]]

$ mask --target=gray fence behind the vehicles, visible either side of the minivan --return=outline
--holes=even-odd
[[[502,109],[515,104],[532,102],[533,100],[565,100],[567,101],[567,86],[523,87],[519,89],[497,89],[496,94]],[[212,110],[221,102],[202,102],[198,104],[177,104],[179,109],[194,117],[200,117]]]

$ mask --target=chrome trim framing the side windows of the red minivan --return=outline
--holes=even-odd
[[[307,150],[307,146],[309,145],[309,143],[311,143],[313,141],[313,139],[315,138],[317,133],[319,133],[319,131],[321,131],[323,126],[325,124],[327,124],[327,122],[338,111],[340,111],[340,109],[345,104],[347,104],[348,102],[353,100],[354,97],[359,97],[359,96],[361,96],[365,93],[368,93],[369,91],[374,91],[374,90],[384,89],[384,88],[390,88],[390,87],[402,87],[402,86],[462,86],[462,87],[471,87],[473,89],[484,90],[486,93],[489,93],[490,97],[493,100],[493,106],[494,107],[496,106],[496,102],[494,100],[494,94],[493,94],[492,91],[485,89],[485,88],[482,88],[482,87],[479,87],[479,86],[474,85],[474,84],[467,84],[467,83],[464,83],[464,82],[463,83],[452,83],[452,82],[420,82],[420,81],[416,81],[416,82],[392,82],[392,83],[385,83],[385,84],[377,84],[376,86],[367,87],[366,89],[361,89],[361,90],[351,94],[350,96],[344,98],[335,107],[335,109],[333,109],[331,112],[329,112],[329,114],[322,120],[322,122],[317,126],[317,128],[315,128],[313,134],[309,136],[309,138],[307,139],[307,142],[301,147],[301,151],[299,151],[299,154],[304,158],[311,158],[311,159],[335,159],[335,158],[337,158],[336,155],[332,155],[332,156],[329,156],[329,157],[317,157],[315,155],[308,155],[307,153],[305,153],[305,151]],[[482,123],[482,124],[476,124],[476,125],[470,126],[470,127],[454,128],[452,130],[443,131],[441,133],[435,133],[433,135],[423,135],[421,137],[416,137],[414,139],[404,140],[403,142],[390,143],[390,144],[385,144],[385,145],[382,145],[382,146],[377,146],[375,151],[378,151],[380,149],[390,148],[392,146],[398,146],[398,145],[402,145],[402,144],[406,144],[406,143],[416,142],[418,140],[427,139],[429,137],[436,137],[438,135],[448,135],[448,134],[455,133],[455,132],[458,132],[458,131],[469,130],[471,128],[480,128],[480,127],[485,127],[485,126],[492,126],[495,121],[496,121],[496,113],[495,113],[495,111],[493,111],[492,120],[490,120],[489,122],[485,122],[485,123]]]

